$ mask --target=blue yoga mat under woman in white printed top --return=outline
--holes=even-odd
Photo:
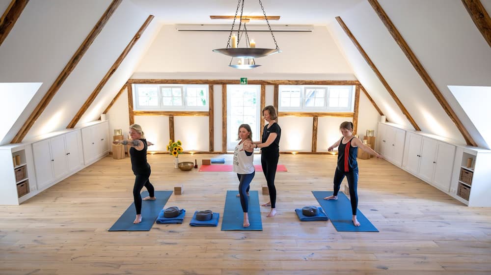
[[[221,230],[263,230],[261,222],[261,209],[259,208],[259,196],[257,191],[249,192],[249,227],[244,227],[244,211],[241,206],[241,198],[237,196],[239,191],[227,191],[225,209],[221,220]]]

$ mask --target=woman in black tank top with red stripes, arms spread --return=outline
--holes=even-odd
[[[350,200],[351,200],[351,211],[353,214],[353,224],[355,226],[360,226],[358,220],[356,220],[356,210],[358,207],[358,163],[356,162],[356,157],[358,155],[358,147],[371,154],[377,158],[382,158],[382,156],[372,150],[372,148],[366,146],[358,138],[353,136],[353,123],[345,121],[339,126],[339,130],[343,137],[332,144],[327,151],[331,152],[334,148],[338,147],[338,161],[336,166],[336,171],[334,172],[334,192],[331,196],[325,197],[324,199],[337,199],[337,194],[341,187],[341,182],[346,176],[348,180],[348,186],[350,187]]]

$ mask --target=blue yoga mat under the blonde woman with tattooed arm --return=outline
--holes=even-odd
[[[155,191],[156,200],[142,201],[142,220],[138,224],[133,224],[136,216],[135,203],[133,202],[123,215],[109,228],[109,231],[149,231],[171,194],[172,191]],[[146,196],[148,196],[147,191],[141,192],[142,198]]]

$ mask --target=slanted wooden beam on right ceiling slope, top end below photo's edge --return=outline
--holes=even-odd
[[[377,69],[377,67],[375,66],[375,64],[372,62],[372,59],[370,59],[370,57],[368,57],[368,55],[365,52],[365,50],[363,50],[363,48],[361,47],[360,43],[358,43],[358,41],[356,40],[356,38],[353,35],[353,33],[351,33],[350,29],[346,26],[346,24],[344,24],[344,22],[341,19],[341,17],[339,17],[339,16],[336,17],[336,20],[339,23],[339,25],[343,28],[343,30],[346,33],[346,35],[348,35],[348,37],[351,39],[351,41],[355,45],[356,49],[358,49],[358,52],[363,56],[363,58],[368,63],[368,65],[370,66],[370,68],[372,68],[372,70],[374,71],[375,75],[377,75],[377,77],[379,78],[379,80],[382,82],[383,86],[385,87],[385,89],[387,90],[387,92],[390,94],[390,96],[392,97],[392,99],[396,102],[396,104],[399,107],[399,109],[401,109],[402,113],[408,118],[408,120],[411,123],[412,127],[414,127],[414,129],[416,131],[421,131],[421,129],[419,128],[419,126],[416,124],[416,121],[414,121],[414,119],[412,118],[412,116],[409,114],[409,111],[406,110],[406,108],[404,107],[404,105],[402,104],[402,102],[399,100],[399,98],[397,97],[397,95],[394,93],[394,91],[392,90],[392,88],[385,81],[385,79],[383,78],[383,76],[380,73],[380,71]]]

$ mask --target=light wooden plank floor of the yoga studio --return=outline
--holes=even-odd
[[[181,161],[221,155],[183,155]],[[223,155],[231,163],[232,155]],[[358,209],[380,232],[337,232],[330,221],[300,222],[295,208],[332,190],[336,156],[281,155],[274,218],[263,231],[154,224],[109,232],[132,203],[130,160],[106,157],[20,206],[0,206],[0,274],[491,274],[491,209],[469,208],[382,160],[359,160]],[[149,155],[157,190],[184,184],[168,206],[223,213],[233,172],[183,172]],[[254,158],[260,163],[259,155]],[[256,173],[251,190],[265,184]],[[491,198],[490,198],[491,199]],[[346,209],[346,211],[351,211]]]

